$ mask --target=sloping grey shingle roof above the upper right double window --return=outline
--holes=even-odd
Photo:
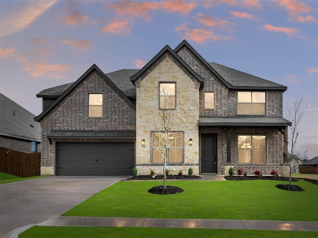
[[[276,90],[287,90],[287,87],[263,78],[253,76],[239,70],[226,67],[218,63],[209,63],[234,89],[242,88],[271,88]]]

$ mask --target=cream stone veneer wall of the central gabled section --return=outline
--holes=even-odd
[[[176,110],[172,110],[173,130],[184,132],[183,163],[168,164],[171,174],[179,170],[188,174],[192,167],[193,174],[199,174],[199,137],[198,137],[198,100],[199,83],[191,79],[189,72],[170,54],[164,54],[153,68],[136,80],[136,168],[138,175],[149,175],[150,170],[163,174],[161,164],[153,164],[151,158],[151,132],[159,129],[159,82],[176,83]],[[193,145],[189,145],[189,139]],[[146,146],[141,146],[141,140]]]

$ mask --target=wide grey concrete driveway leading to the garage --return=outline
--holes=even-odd
[[[10,231],[59,216],[128,177],[50,176],[0,185],[0,238]]]

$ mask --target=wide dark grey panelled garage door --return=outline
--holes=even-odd
[[[132,175],[134,143],[58,143],[57,175]]]

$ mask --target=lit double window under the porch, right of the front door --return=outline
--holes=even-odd
[[[239,135],[239,163],[265,164],[266,137],[263,135]]]

